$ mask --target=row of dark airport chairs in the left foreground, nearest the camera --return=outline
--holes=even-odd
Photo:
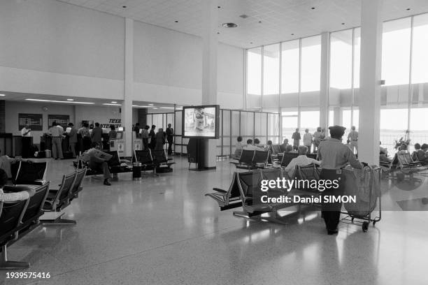
[[[7,247],[20,240],[39,224],[76,224],[76,221],[61,219],[63,210],[71,200],[78,197],[83,190],[82,182],[86,168],[64,175],[59,189],[49,189],[50,182],[41,185],[6,185],[3,191],[18,192],[34,188],[34,195],[27,200],[4,202],[0,201],[0,270],[20,270],[29,268],[29,263],[8,261]],[[45,219],[48,212],[53,212],[55,219]]]

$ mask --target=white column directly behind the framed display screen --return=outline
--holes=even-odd
[[[217,1],[204,0],[203,2],[203,49],[202,49],[202,103],[217,103]],[[205,144],[205,167],[216,166],[216,140],[207,140]]]

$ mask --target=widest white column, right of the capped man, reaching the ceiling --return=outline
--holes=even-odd
[[[362,0],[358,158],[379,163],[383,0]]]

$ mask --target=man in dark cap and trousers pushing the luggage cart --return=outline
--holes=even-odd
[[[342,136],[345,133],[343,126],[330,126],[330,138],[320,142],[318,159],[321,161],[321,180],[337,180],[338,187],[326,189],[323,196],[341,196],[344,193],[343,182],[344,175],[342,170],[347,163],[353,168],[361,169],[362,163],[359,163],[355,154],[349,147],[343,145]],[[341,202],[322,203],[322,217],[324,218],[327,233],[334,235],[338,233],[337,226],[341,217]]]

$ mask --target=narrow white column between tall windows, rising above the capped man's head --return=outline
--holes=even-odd
[[[329,118],[329,65],[330,34],[325,31],[321,34],[320,126],[326,130]]]

